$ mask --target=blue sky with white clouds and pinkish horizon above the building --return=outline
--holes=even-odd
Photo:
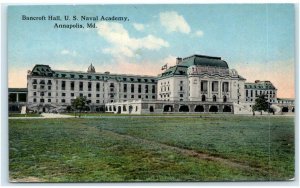
[[[294,14],[292,4],[9,6],[8,85],[26,87],[35,64],[86,71],[92,63],[97,72],[157,75],[176,57],[200,54],[221,57],[246,82],[270,80],[278,97],[294,98]],[[23,15],[62,20],[22,20]],[[84,28],[54,28],[55,23]]]

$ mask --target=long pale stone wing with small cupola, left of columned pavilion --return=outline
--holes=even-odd
[[[108,102],[155,100],[156,77],[97,73],[93,65],[87,72],[52,70],[35,65],[27,75],[28,109],[63,111],[77,96],[86,96],[87,111],[104,111]]]

